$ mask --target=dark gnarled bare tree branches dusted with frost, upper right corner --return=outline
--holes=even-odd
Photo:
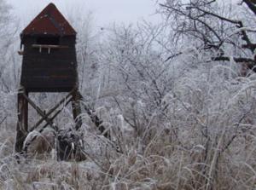
[[[160,7],[172,25],[174,42],[189,38],[187,43],[192,40],[208,59],[234,60],[249,69],[255,66],[254,1],[166,0]]]

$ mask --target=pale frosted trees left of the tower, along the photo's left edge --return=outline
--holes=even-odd
[[[19,76],[20,63],[15,48],[17,22],[5,0],[0,1],[0,123],[9,120],[15,107],[15,89]],[[7,119],[9,118],[9,119]]]

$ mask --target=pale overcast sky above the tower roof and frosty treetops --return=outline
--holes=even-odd
[[[95,26],[110,23],[136,23],[138,20],[158,22],[155,0],[8,0],[21,24],[27,25],[44,7],[52,2],[64,15],[92,12]]]

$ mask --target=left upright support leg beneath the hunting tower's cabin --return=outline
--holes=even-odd
[[[28,95],[25,89],[20,89],[18,94],[18,123],[16,128],[15,151],[22,151],[23,142],[27,135],[28,102],[23,95]]]

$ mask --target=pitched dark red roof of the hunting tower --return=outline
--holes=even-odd
[[[32,22],[26,26],[23,35],[50,34],[60,36],[76,35],[73,27],[68,23],[55,4],[49,3]]]

